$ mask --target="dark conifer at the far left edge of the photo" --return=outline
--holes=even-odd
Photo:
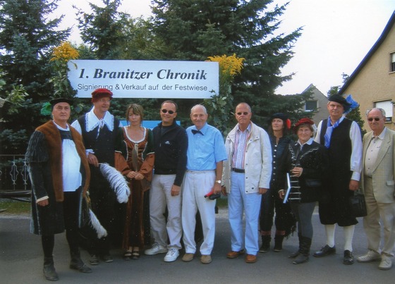
[[[64,41],[70,30],[59,30],[61,18],[49,16],[57,0],[0,0],[1,153],[23,154],[31,132],[47,118],[39,116],[42,101],[54,93],[49,78],[51,49]],[[22,95],[21,100],[13,101]],[[11,95],[11,97],[9,97]],[[22,128],[22,129],[21,129]]]

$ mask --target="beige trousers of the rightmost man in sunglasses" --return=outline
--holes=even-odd
[[[395,202],[379,203],[373,194],[371,178],[365,178],[365,202],[367,216],[363,217],[363,228],[367,236],[367,248],[394,257],[395,245]],[[381,226],[384,226],[384,242],[380,249]]]

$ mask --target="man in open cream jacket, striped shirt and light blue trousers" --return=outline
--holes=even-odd
[[[235,111],[238,124],[226,137],[228,160],[224,162],[224,194],[229,194],[231,252],[234,259],[247,252],[245,262],[257,261],[258,218],[262,194],[269,189],[272,175],[272,147],[269,135],[251,122],[251,108],[241,103]],[[226,192],[225,192],[226,190]],[[245,236],[243,238],[243,211]]]

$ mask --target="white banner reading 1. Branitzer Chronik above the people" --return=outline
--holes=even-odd
[[[219,92],[218,62],[72,60],[68,69],[81,98],[98,88],[114,98],[206,99]]]

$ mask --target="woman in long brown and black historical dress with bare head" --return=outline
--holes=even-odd
[[[130,104],[126,111],[128,125],[123,130],[123,154],[130,168],[130,196],[126,206],[123,234],[124,259],[138,259],[140,249],[150,244],[150,182],[154,167],[152,131],[142,127],[142,106]]]

